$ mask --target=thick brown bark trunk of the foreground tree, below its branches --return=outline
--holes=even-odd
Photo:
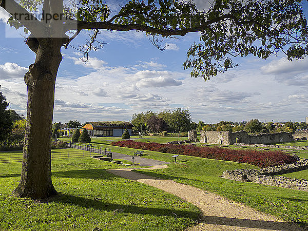
[[[35,63],[25,74],[28,86],[28,112],[21,181],[13,193],[32,199],[56,194],[51,182],[51,126],[54,87],[62,61],[61,38],[29,38]]]

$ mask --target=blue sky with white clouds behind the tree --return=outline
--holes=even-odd
[[[202,7],[203,1],[196,3]],[[26,114],[23,75],[35,56],[18,33],[0,22],[0,90],[10,108]],[[72,44],[82,44],[87,36],[82,33]],[[198,33],[163,41],[169,44],[165,51],[141,32],[102,31],[100,40],[108,44],[90,53],[87,63],[73,48],[62,49],[54,121],[129,121],[132,113],[176,107],[188,108],[193,121],[206,123],[304,121],[308,116],[308,59],[289,62],[278,55],[263,61],[248,56],[236,60],[239,67],[205,82],[190,78],[190,70],[183,68]]]

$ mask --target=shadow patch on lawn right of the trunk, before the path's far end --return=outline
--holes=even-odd
[[[59,178],[102,179],[102,180],[120,178],[118,176],[109,174],[104,168],[57,171],[57,172],[52,172],[52,176]]]

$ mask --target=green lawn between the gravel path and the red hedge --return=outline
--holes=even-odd
[[[110,145],[100,146],[112,148],[112,151],[128,155],[132,155],[135,150]],[[174,162],[172,154],[148,150],[144,152],[146,153],[146,158]],[[257,183],[237,182],[220,177],[225,170],[240,168],[257,167],[244,163],[180,156],[177,158],[177,163],[170,164],[166,169],[139,169],[136,171],[212,191],[223,197],[242,202],[264,213],[308,226],[307,192]],[[304,174],[306,174],[306,177],[308,176],[307,171]]]

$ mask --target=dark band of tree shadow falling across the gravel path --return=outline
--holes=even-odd
[[[280,221],[263,221],[241,218],[216,217],[216,216],[201,216],[199,221],[202,224],[228,225],[243,228],[258,228],[267,230],[306,230],[295,223],[287,223]],[[305,223],[301,223],[305,225]]]

